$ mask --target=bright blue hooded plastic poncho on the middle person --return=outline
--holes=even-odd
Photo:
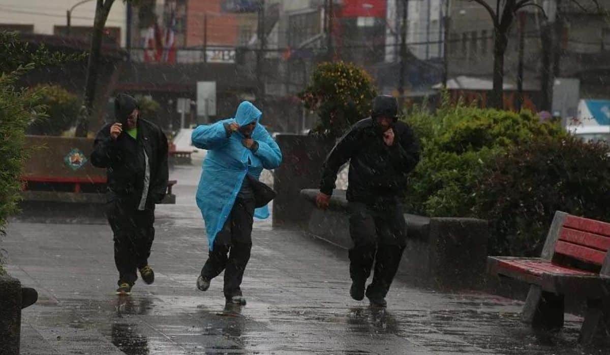
[[[216,235],[231,214],[237,193],[246,174],[260,178],[263,169],[275,169],[282,161],[282,152],[267,130],[260,125],[262,113],[248,101],[237,108],[235,118],[211,125],[200,125],[193,130],[193,145],[207,150],[201,179],[197,188],[197,206],[206,222],[207,239],[212,250]],[[256,121],[252,139],[259,145],[252,152],[242,144],[245,138],[239,131],[228,136],[225,124],[237,122],[240,126]],[[257,208],[254,217],[269,217],[267,206]]]

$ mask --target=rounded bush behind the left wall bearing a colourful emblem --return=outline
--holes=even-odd
[[[40,104],[45,106],[45,117],[30,122],[29,135],[59,136],[76,124],[81,101],[59,85],[38,85],[32,90],[42,93]]]

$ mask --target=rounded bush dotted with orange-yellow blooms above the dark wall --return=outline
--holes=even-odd
[[[364,69],[352,63],[321,63],[312,82],[299,94],[305,108],[320,117],[312,133],[337,138],[352,124],[366,118],[377,91]]]

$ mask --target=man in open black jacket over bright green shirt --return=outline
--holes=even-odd
[[[154,239],[154,207],[165,197],[168,145],[157,125],[140,118],[136,100],[115,98],[117,122],[95,138],[91,164],[107,169],[107,217],[114,234],[118,295],[129,295],[136,269],[145,283],[154,281],[148,265]]]

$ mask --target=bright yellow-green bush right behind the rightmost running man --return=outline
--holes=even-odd
[[[476,217],[476,183],[497,156],[537,137],[564,136],[559,126],[541,124],[528,111],[452,106],[447,98],[435,114],[415,108],[407,121],[420,138],[422,160],[406,205],[432,217]]]

